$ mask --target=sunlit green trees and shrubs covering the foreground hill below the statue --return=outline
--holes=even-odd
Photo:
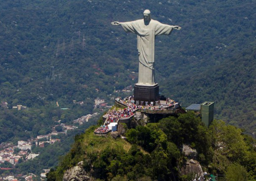
[[[191,181],[192,173],[180,174],[188,159],[181,153],[183,144],[198,151],[196,159],[203,172],[222,175],[219,181],[247,181],[256,176],[253,138],[221,120],[207,128],[188,112],[128,129],[127,141],[97,136],[95,128],[75,137],[75,144],[48,174],[48,181],[62,181],[64,172],[81,161],[85,173],[99,180]]]

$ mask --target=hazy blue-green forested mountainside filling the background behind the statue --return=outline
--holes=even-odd
[[[255,0],[0,0],[0,100],[45,110],[56,101],[62,107],[85,101],[91,112],[94,98],[137,81],[130,76],[138,72],[136,35],[110,22],[140,19],[150,9],[152,19],[182,27],[156,39],[160,92],[183,106],[215,101],[217,118],[250,132],[255,8]],[[43,119],[49,124],[54,116]],[[1,131],[15,124],[6,119]],[[32,131],[36,122],[30,124]]]

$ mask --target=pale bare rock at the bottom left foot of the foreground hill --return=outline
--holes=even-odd
[[[77,166],[66,170],[63,181],[95,181],[87,172],[83,169],[84,162],[79,162]]]

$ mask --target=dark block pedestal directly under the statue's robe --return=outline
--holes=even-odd
[[[159,100],[159,85],[140,85],[140,84],[134,84],[134,100],[143,101],[143,104],[145,102],[155,102]]]

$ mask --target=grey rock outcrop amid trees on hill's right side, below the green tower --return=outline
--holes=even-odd
[[[197,150],[192,149],[188,145],[183,145],[182,154],[188,159],[180,169],[181,175],[188,175],[189,173],[195,173],[198,176],[203,175],[203,169],[200,163],[195,160],[198,156]]]

